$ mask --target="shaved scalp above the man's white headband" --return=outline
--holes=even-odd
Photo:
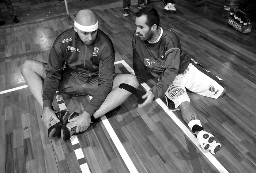
[[[76,14],[76,22],[83,26],[90,26],[97,23],[97,17],[90,9],[82,9]]]

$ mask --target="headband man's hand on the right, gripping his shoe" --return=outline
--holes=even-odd
[[[91,116],[86,111],[83,111],[81,115],[68,120],[68,122],[76,122],[76,133],[79,133],[87,130],[87,128],[90,126]]]

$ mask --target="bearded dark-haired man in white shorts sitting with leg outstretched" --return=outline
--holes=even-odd
[[[180,39],[168,29],[159,26],[159,15],[152,7],[136,14],[137,26],[133,35],[133,69],[140,83],[149,78],[158,82],[142,96],[146,99],[138,107],[147,105],[165,95],[169,109],[177,107],[189,128],[196,134],[200,146],[212,154],[221,144],[204,130],[191,107],[186,88],[203,96],[217,99],[225,94],[223,80],[198,65],[182,50]]]

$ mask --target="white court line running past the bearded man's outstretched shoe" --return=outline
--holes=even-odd
[[[134,74],[133,69],[124,61],[117,61],[115,64],[121,63],[123,66],[132,74]],[[150,90],[150,87],[146,83],[141,84],[146,91]],[[172,120],[181,128],[181,130],[187,135],[187,137],[202,151],[202,153],[206,156],[206,158],[212,163],[212,165],[215,166],[221,173],[228,173],[228,171],[224,168],[224,166],[209,152],[206,150],[203,150],[201,147],[199,147],[199,142],[197,138],[192,134],[192,132],[188,129],[187,126],[185,126],[180,119],[177,118],[175,114],[171,110],[167,108],[167,106],[163,103],[161,99],[155,100],[162,108],[163,110],[172,118]]]

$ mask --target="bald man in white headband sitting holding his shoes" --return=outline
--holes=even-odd
[[[98,29],[94,12],[85,9],[76,15],[74,28],[56,38],[48,64],[30,59],[24,62],[22,75],[43,108],[42,120],[50,139],[61,136],[66,141],[73,134],[85,131],[91,120],[116,108],[136,91],[138,81],[134,75],[114,75],[114,57],[112,41]],[[90,95],[93,99],[80,115],[56,113],[52,110],[56,91]],[[67,120],[64,118],[67,115],[68,122],[62,122]]]

